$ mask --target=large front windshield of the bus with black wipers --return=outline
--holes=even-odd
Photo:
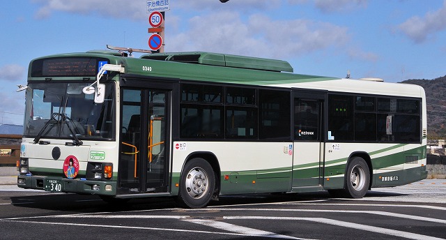
[[[30,83],[26,89],[24,136],[79,140],[114,139],[114,84],[104,103],[82,92],[89,83]]]

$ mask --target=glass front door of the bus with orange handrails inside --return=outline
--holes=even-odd
[[[121,89],[118,194],[165,193],[171,89]]]

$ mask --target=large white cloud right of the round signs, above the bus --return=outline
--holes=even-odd
[[[265,15],[252,15],[243,22],[234,12],[193,17],[189,25],[187,33],[167,36],[167,51],[201,50],[284,58],[344,45],[349,40],[345,27],[326,22],[274,21]]]

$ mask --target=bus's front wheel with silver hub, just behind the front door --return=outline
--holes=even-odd
[[[203,158],[188,161],[181,172],[180,191],[176,200],[183,207],[205,207],[215,190],[212,166]]]

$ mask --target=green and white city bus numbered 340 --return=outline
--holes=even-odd
[[[298,75],[286,61],[116,51],[33,59],[17,185],[109,201],[364,197],[426,178],[422,87]]]

